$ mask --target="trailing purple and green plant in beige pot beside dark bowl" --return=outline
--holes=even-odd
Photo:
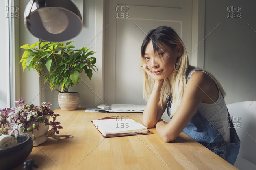
[[[43,102],[41,106],[35,106],[25,104],[22,99],[16,102],[19,106],[0,109],[0,135],[14,134],[17,138],[19,133],[26,133],[32,137],[34,145],[37,146],[51,136],[45,135],[48,133],[49,125],[52,126],[52,132],[59,134],[58,129],[62,129],[60,122],[56,121],[59,114],[51,110],[50,103]],[[54,133],[52,137],[55,136]]]

